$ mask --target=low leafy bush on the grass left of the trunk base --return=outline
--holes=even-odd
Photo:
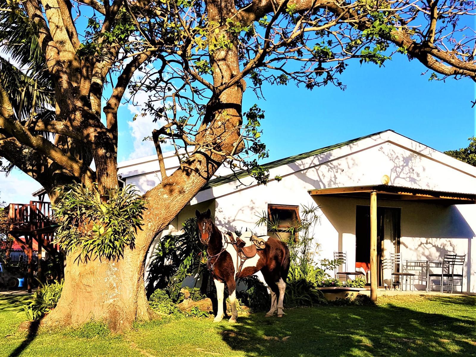
[[[23,305],[25,314],[30,321],[39,320],[52,308],[56,307],[63,289],[63,280],[43,285],[33,294],[33,300]]]

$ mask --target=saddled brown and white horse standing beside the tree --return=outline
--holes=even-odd
[[[228,295],[231,304],[231,317],[229,322],[236,322],[236,281],[238,278],[248,277],[261,271],[271,290],[271,309],[266,316],[283,317],[283,300],[286,290],[286,279],[289,271],[289,249],[280,240],[263,236],[266,246],[258,250],[253,258],[248,258],[241,269],[240,256],[226,235],[222,234],[210,218],[210,210],[205,213],[196,211],[200,240],[207,246],[208,268],[217,288],[218,312],[213,321],[221,321],[223,313],[223,291],[225,284],[228,287]]]

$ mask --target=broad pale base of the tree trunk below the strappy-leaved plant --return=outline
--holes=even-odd
[[[79,252],[69,253],[60,301],[41,325],[77,327],[95,320],[120,332],[136,320],[149,320],[143,279],[146,254],[128,248],[119,261],[95,259],[85,263],[77,259]]]

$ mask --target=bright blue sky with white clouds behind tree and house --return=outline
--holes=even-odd
[[[431,72],[416,60],[396,54],[385,67],[360,65],[356,60],[340,79],[342,91],[327,86],[309,91],[287,86],[266,86],[266,100],[245,92],[243,110],[254,103],[265,110],[263,141],[269,160],[385,129],[393,129],[434,149],[467,146],[475,134],[475,85],[470,79],[428,81]],[[140,108],[125,104],[119,109],[119,161],[153,155],[152,142],[142,141],[157,124],[147,118],[132,122]],[[26,202],[40,185],[19,170],[0,176],[0,199]]]

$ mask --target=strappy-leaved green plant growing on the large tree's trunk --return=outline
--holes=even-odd
[[[142,225],[145,200],[132,185],[109,189],[102,202],[97,191],[81,184],[64,186],[53,208],[60,227],[56,242],[67,253],[81,248],[85,260],[116,259],[126,247],[134,248],[135,233]]]

